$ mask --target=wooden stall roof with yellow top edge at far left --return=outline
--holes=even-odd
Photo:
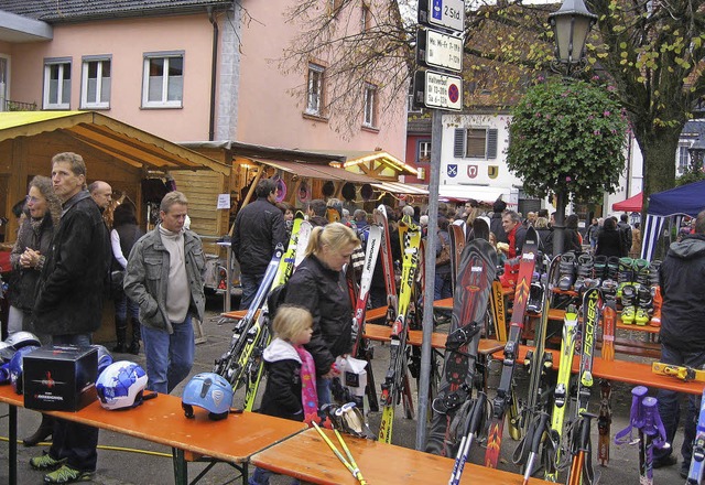
[[[0,141],[57,130],[139,169],[209,169],[230,174],[229,165],[99,112],[0,112]]]

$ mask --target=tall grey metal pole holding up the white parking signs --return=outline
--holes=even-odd
[[[433,287],[436,272],[436,239],[438,214],[438,181],[441,179],[441,140],[443,119],[440,109],[433,110],[431,123],[431,179],[429,181],[429,235],[425,254],[425,291],[423,293],[423,341],[421,343],[421,375],[419,377],[419,413],[416,421],[416,450],[426,446],[429,389],[431,384],[431,338],[433,337]]]

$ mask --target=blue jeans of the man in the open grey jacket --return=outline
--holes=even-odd
[[[191,315],[182,323],[172,323],[174,333],[142,325],[142,343],[147,356],[147,388],[170,394],[184,380],[194,364],[196,344]]]

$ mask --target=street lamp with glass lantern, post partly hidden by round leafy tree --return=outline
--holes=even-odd
[[[555,39],[555,61],[551,67],[566,76],[585,67],[585,41],[597,21],[597,15],[585,7],[583,0],[565,0],[558,11],[549,15]],[[565,202],[567,194],[556,192],[556,214],[553,226],[553,254],[560,255],[564,248]]]

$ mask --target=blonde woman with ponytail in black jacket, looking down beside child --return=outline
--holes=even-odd
[[[337,356],[351,349],[352,306],[343,268],[360,245],[357,234],[340,223],[315,227],[306,257],[289,280],[285,303],[313,316],[313,336],[305,345],[316,365],[318,403],[330,402],[330,379],[338,375]]]

